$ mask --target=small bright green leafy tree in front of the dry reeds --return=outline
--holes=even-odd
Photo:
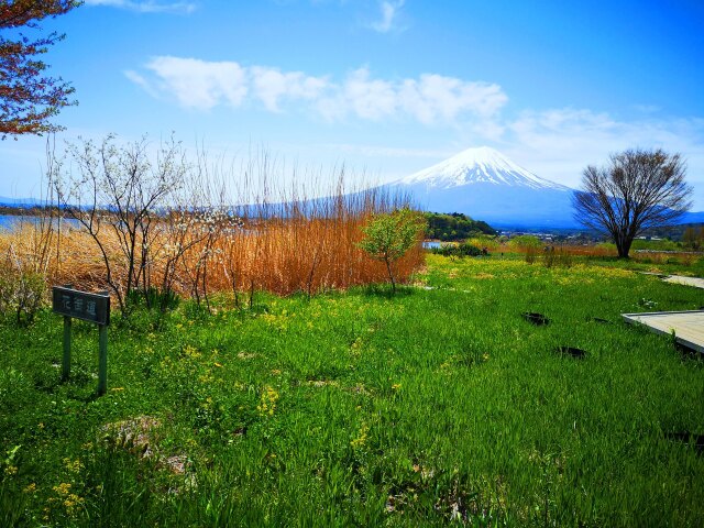
[[[394,294],[396,293],[394,263],[419,241],[425,229],[426,220],[424,217],[410,209],[375,215],[362,228],[364,238],[359,246],[372,258],[386,264]]]

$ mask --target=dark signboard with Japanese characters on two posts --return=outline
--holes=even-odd
[[[98,324],[98,394],[108,389],[108,324],[110,324],[110,296],[108,292],[90,294],[73,288],[73,285],[54,286],[52,305],[55,314],[64,316],[64,361],[62,381],[70,375],[70,326],[72,318]]]

